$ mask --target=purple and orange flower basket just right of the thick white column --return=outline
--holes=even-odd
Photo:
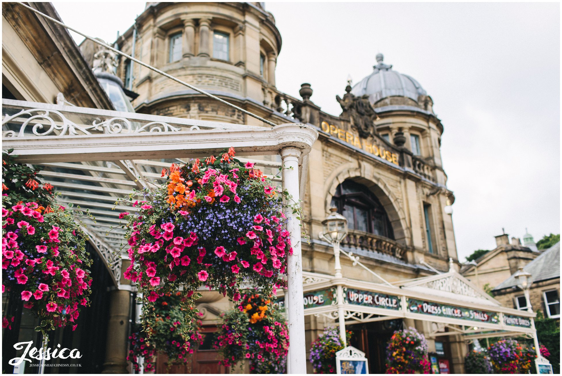
[[[351,331],[346,331],[349,343]],[[343,342],[339,337],[339,329],[324,328],[318,338],[310,346],[309,360],[315,373],[336,373],[336,352],[343,349]]]

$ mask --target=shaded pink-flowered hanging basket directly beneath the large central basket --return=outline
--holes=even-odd
[[[187,363],[189,355],[203,343],[201,320],[192,319],[187,328],[183,324],[185,314],[180,305],[181,296],[181,293],[176,292],[158,298],[152,308],[152,318],[147,319],[147,329],[136,325],[129,337],[127,356],[135,370],[140,369],[141,357],[144,359],[144,369],[154,370],[157,352],[167,355],[168,366],[177,362]]]

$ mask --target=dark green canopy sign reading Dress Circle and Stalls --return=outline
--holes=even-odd
[[[447,317],[452,319],[478,321],[480,323],[498,323],[497,312],[473,310],[418,299],[407,299],[408,311],[417,314]]]

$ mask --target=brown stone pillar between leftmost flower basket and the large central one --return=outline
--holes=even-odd
[[[130,292],[114,290],[110,299],[103,373],[127,373]]]

